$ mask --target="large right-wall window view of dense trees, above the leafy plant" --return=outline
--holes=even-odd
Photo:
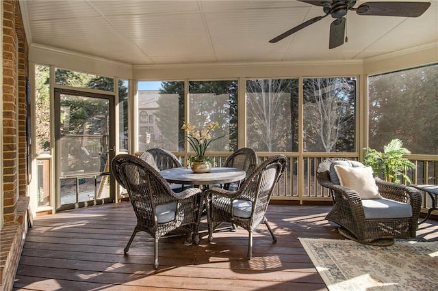
[[[413,154],[437,154],[437,88],[438,64],[369,77],[369,146],[397,138]]]

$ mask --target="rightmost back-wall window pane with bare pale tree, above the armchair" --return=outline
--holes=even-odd
[[[303,80],[305,152],[355,152],[355,77]]]

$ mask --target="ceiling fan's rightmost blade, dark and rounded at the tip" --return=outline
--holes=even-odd
[[[430,2],[366,2],[360,5],[359,15],[418,17],[430,6]]]

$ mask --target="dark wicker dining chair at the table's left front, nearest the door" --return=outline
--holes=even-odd
[[[150,234],[154,240],[154,267],[158,268],[158,240],[172,230],[188,230],[186,244],[192,243],[196,225],[195,202],[201,189],[190,188],[180,193],[148,163],[129,154],[118,154],[111,163],[112,175],[128,191],[137,224],[124,249],[125,253],[138,232]]]

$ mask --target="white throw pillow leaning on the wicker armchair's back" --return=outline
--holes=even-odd
[[[355,190],[361,199],[381,199],[374,180],[372,167],[345,167],[335,165],[335,171],[342,186]]]

